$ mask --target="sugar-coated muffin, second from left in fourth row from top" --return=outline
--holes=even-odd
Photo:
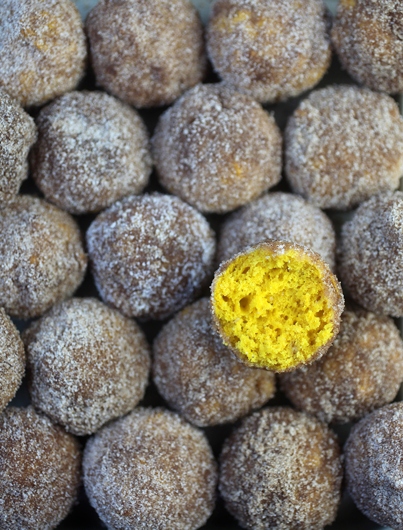
[[[33,404],[87,435],[143,398],[150,352],[139,326],[95,298],[52,308],[23,334]]]

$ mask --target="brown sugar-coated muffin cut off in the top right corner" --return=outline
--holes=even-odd
[[[402,21],[399,0],[340,0],[332,41],[355,81],[390,94],[403,92]]]

